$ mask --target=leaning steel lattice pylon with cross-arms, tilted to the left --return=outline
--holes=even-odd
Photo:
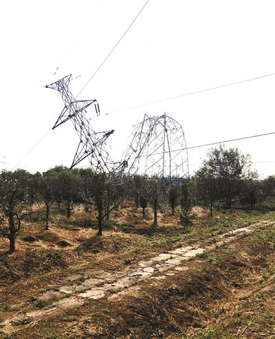
[[[45,86],[46,88],[58,91],[65,104],[65,107],[61,111],[61,114],[52,129],[56,129],[56,127],[66,121],[72,120],[74,128],[76,129],[80,139],[71,168],[88,157],[92,168],[96,172],[101,171],[111,173],[112,171],[115,171],[116,173],[122,173],[126,163],[113,162],[105,147],[107,138],[109,138],[114,131],[94,131],[86,117],[86,113],[88,107],[94,104],[96,116],[99,116],[100,109],[98,102],[96,100],[76,100],[72,92],[69,90],[69,81],[71,76],[72,75],[65,76],[64,78],[57,80],[55,83]]]

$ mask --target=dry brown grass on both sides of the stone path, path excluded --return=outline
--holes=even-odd
[[[69,284],[74,278],[81,280],[87,274],[93,276],[98,270],[135,267],[140,260],[179,245],[212,242],[228,230],[259,220],[274,220],[273,213],[217,212],[212,218],[201,208],[194,213],[197,216],[185,233],[177,224],[177,215],[159,213],[159,225],[153,226],[150,209],[143,219],[142,210],[126,204],[106,221],[103,237],[96,235],[94,212],[86,213],[82,208],[75,210],[69,221],[64,212],[55,211],[49,231],[44,230],[43,215],[28,219],[17,239],[17,252],[8,255],[8,241],[1,238],[0,308],[8,309],[23,298],[36,298],[41,290]],[[26,241],[26,237],[37,241]],[[230,251],[227,248],[188,263],[188,271],[167,277],[164,283],[147,283],[142,294],[137,292],[115,303],[90,300],[83,309],[45,318],[37,329],[25,330],[18,338],[54,338],[54,333],[65,338],[258,338],[248,336],[247,324],[239,331],[242,337],[236,334],[238,326],[223,324],[236,318],[234,307],[230,307],[239,303],[237,292],[252,292],[253,298],[255,281],[261,281],[272,270],[274,254],[268,247],[268,237],[264,233],[255,239],[245,237],[230,245]],[[263,293],[271,296],[269,283],[263,285]],[[226,316],[219,314],[221,307],[226,309]],[[253,304],[249,311],[253,312]],[[68,316],[70,331],[64,333],[64,317]],[[257,320],[255,333],[263,329],[261,321]],[[269,318],[268,324],[271,321]],[[219,331],[226,331],[228,337],[220,336]]]

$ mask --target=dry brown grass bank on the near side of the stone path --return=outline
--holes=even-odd
[[[274,338],[274,249],[275,228],[256,231],[142,292],[89,300],[20,338]]]

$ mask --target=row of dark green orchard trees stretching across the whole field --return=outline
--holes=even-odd
[[[102,221],[109,219],[111,210],[118,207],[123,199],[135,201],[136,207],[142,208],[143,217],[146,208],[151,206],[155,224],[160,208],[170,206],[172,214],[178,208],[181,224],[188,225],[192,204],[208,206],[212,215],[214,206],[218,204],[254,208],[259,202],[275,197],[275,176],[259,180],[257,173],[251,169],[248,155],[224,146],[212,149],[191,178],[172,180],[172,185],[162,178],[142,175],[122,177],[122,183],[114,185],[110,176],[94,173],[89,168],[69,170],[65,166],[35,174],[21,169],[2,171],[0,221],[10,240],[10,252],[15,250],[15,238],[22,219],[39,208],[45,212],[45,230],[48,230],[54,204],[58,208],[62,205],[68,218],[75,204],[83,204],[87,211],[94,208],[98,234],[101,235]]]

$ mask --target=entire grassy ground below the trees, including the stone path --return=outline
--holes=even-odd
[[[92,212],[29,217],[1,238],[0,338],[275,338],[275,213],[125,202],[96,235]]]

